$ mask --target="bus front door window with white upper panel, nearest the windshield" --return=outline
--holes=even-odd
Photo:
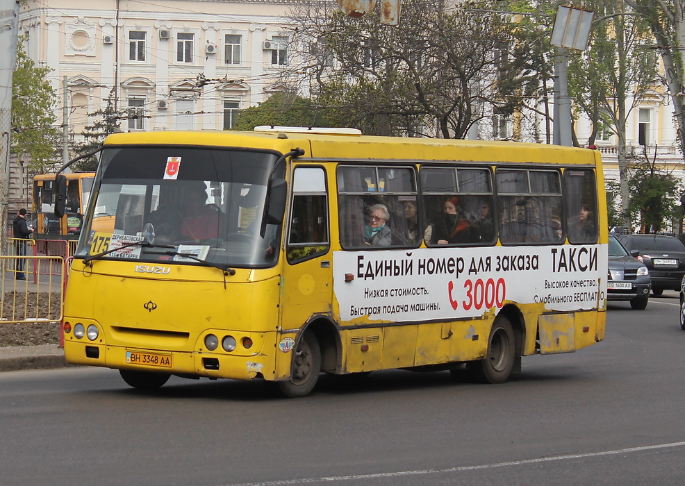
[[[288,263],[328,253],[329,224],[326,177],[320,167],[296,167],[288,224]]]

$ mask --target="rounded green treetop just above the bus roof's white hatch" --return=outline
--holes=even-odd
[[[231,130],[253,130],[260,125],[334,126],[323,110],[292,92],[275,93],[258,106],[240,110]]]

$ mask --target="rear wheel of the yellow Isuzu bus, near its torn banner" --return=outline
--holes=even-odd
[[[467,364],[470,378],[478,383],[504,383],[511,375],[515,351],[511,322],[498,316],[490,330],[486,357]]]

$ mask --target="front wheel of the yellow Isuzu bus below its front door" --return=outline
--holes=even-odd
[[[290,380],[278,382],[279,391],[291,399],[307,396],[321,371],[321,349],[314,333],[306,331],[294,352]]]

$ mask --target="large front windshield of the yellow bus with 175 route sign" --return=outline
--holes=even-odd
[[[273,265],[280,225],[263,224],[263,218],[278,156],[180,146],[106,148],[74,256],[93,260],[109,251],[102,258]],[[147,244],[131,245],[143,240]]]

